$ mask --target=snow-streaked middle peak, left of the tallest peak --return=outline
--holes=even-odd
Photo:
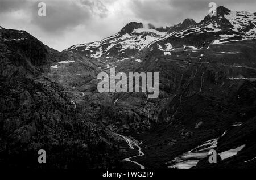
[[[117,34],[99,42],[73,45],[64,52],[86,55],[93,58],[127,57],[138,53],[152,41],[165,35],[155,29],[143,28],[142,23],[129,23]]]

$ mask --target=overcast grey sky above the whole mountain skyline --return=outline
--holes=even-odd
[[[38,16],[39,2],[46,3],[46,16]],[[185,18],[199,22],[208,14],[209,2],[256,12],[255,0],[0,0],[0,26],[25,30],[61,51],[114,35],[129,22],[156,27]]]

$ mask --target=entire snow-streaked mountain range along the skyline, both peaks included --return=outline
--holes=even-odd
[[[256,38],[256,13],[230,11],[220,6],[217,8],[216,16],[207,15],[200,23],[185,19],[164,31],[152,25],[149,27],[151,28],[143,27],[142,23],[132,22],[104,40],[73,45],[64,51],[93,58],[116,58],[127,57],[148,49],[170,51],[184,46],[208,48],[210,44]],[[200,38],[197,38],[198,36]],[[159,45],[162,48],[159,48]]]

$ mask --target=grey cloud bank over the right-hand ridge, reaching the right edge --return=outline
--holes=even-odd
[[[199,22],[208,14],[210,2],[215,2],[217,6],[230,8],[230,10],[237,7],[239,10],[243,7],[241,11],[251,11],[256,6],[255,0],[131,0],[131,2],[131,10],[137,18],[158,25],[177,24],[185,18]]]

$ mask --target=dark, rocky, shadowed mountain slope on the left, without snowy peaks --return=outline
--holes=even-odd
[[[25,31],[0,29],[1,168],[118,165],[110,131],[81,112],[60,84],[42,76],[57,62],[71,60],[80,68],[98,69],[85,59],[48,48]],[[37,161],[40,149],[46,150],[47,164]]]

